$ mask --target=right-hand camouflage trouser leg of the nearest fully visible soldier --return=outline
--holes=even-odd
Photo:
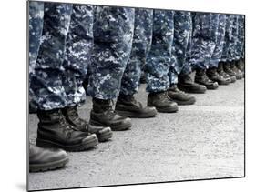
[[[86,100],[82,86],[90,65],[93,47],[94,7],[73,5],[66,41],[65,68],[62,84],[67,96],[67,106],[81,104]]]

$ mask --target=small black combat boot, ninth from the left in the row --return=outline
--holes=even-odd
[[[206,70],[205,69],[197,69],[196,70],[196,76],[195,76],[195,82],[206,86],[207,89],[217,89],[218,83],[215,81],[212,81],[206,76]]]

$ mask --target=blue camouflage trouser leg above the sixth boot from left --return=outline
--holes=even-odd
[[[173,11],[154,10],[152,44],[145,66],[148,92],[161,92],[169,88],[169,67],[174,35],[173,18]]]

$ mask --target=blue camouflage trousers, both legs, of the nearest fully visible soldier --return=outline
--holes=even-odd
[[[93,8],[45,3],[43,33],[31,77],[36,106],[51,110],[85,100],[82,80],[93,42]]]

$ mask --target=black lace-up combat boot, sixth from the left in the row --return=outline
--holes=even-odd
[[[167,91],[149,93],[148,106],[155,106],[162,113],[175,113],[178,111],[177,103],[169,98]]]

